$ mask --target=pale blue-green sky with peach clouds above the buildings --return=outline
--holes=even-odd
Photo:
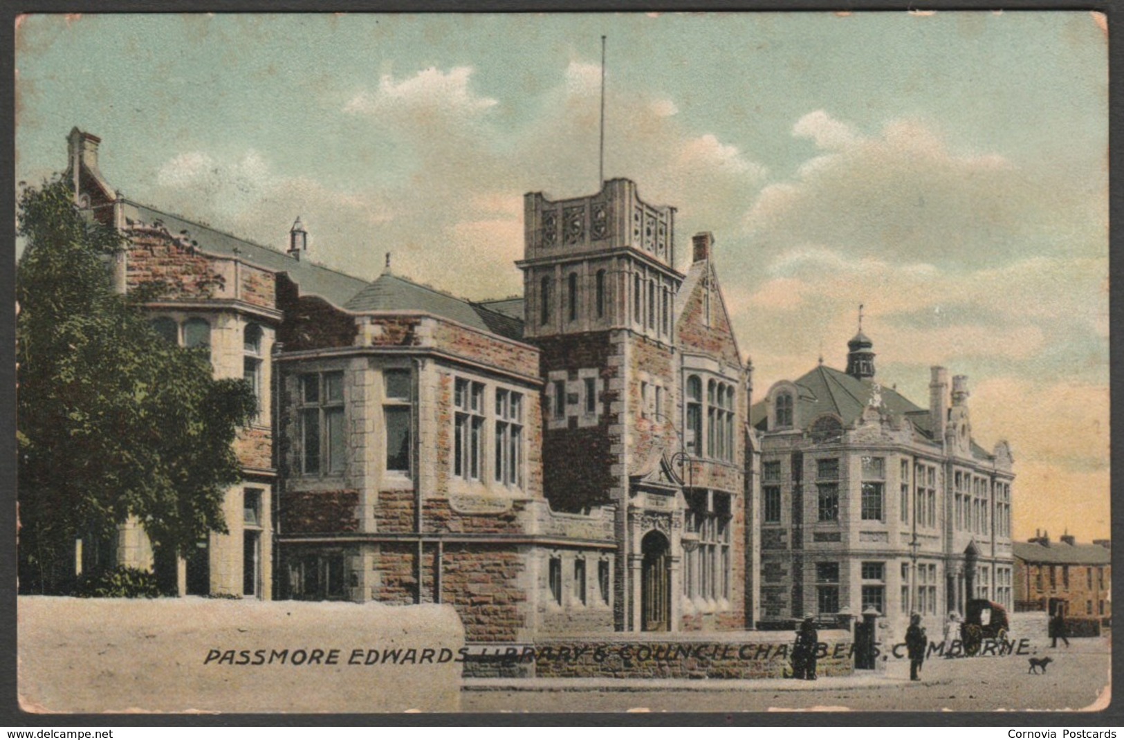
[[[17,179],[63,169],[76,125],[134,199],[279,247],[300,214],[332,267],[391,251],[510,295],[523,193],[597,187],[602,34],[606,175],[679,208],[681,255],[714,232],[762,391],[821,348],[841,366],[864,303],[886,382],[924,403],[930,364],[971,377],[977,435],[1010,440],[1034,502],[1017,534],[1076,502],[1096,515],[1061,525],[1107,534],[1087,12],[28,17]]]

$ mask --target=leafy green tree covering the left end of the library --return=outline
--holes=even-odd
[[[129,516],[165,559],[225,532],[247,383],[161,339],[143,308],[152,290],[114,292],[125,237],[75,208],[63,179],[24,189],[18,233],[20,590],[67,592],[75,539],[106,540]]]

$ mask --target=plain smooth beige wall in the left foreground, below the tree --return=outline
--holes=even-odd
[[[18,599],[28,712],[455,712],[451,606]]]

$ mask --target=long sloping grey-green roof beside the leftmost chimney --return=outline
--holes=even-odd
[[[272,247],[238,238],[151,206],[126,201],[125,217],[129,222],[149,226],[162,224],[172,236],[194,242],[198,249],[207,254],[224,258],[237,256],[250,264],[273,272],[284,272],[290,280],[300,287],[301,296],[319,296],[336,306],[346,304],[352,296],[368,285],[361,278],[307,260],[294,260]]]

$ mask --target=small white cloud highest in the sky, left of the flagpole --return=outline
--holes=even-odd
[[[344,111],[374,116],[404,111],[475,116],[495,106],[497,100],[472,92],[469,89],[471,76],[471,66],[456,66],[448,72],[429,67],[401,81],[383,74],[378,89],[356,93],[344,106]]]

